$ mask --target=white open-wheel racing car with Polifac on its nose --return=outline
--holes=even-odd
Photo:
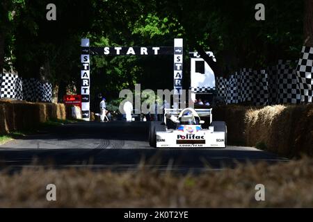
[[[227,126],[224,121],[212,121],[211,112],[212,109],[164,109],[163,121],[150,124],[150,146],[225,148]]]

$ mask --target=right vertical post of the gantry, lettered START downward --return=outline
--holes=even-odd
[[[183,39],[174,39],[174,97],[182,94],[183,51]],[[174,98],[174,108],[179,108],[179,97]]]

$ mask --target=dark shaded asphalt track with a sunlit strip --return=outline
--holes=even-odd
[[[80,122],[43,130],[0,146],[0,169],[91,168],[116,171],[140,166],[159,171],[200,172],[258,161],[287,159],[257,148],[150,148],[149,122]]]

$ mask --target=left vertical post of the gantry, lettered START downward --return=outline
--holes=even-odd
[[[83,120],[90,121],[89,39],[81,39],[81,47],[81,114],[83,116]]]

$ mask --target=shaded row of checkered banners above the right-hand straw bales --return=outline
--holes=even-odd
[[[230,78],[217,77],[217,95],[225,98],[226,103],[247,101],[252,101],[254,105],[300,103],[301,85],[296,75],[296,65],[292,64],[290,60],[280,60],[277,66],[262,71],[241,69],[239,74],[236,73]],[[312,89],[312,84],[307,85],[307,88]],[[303,98],[310,101],[310,98],[312,99],[310,90],[303,90],[303,92],[308,92]]]

